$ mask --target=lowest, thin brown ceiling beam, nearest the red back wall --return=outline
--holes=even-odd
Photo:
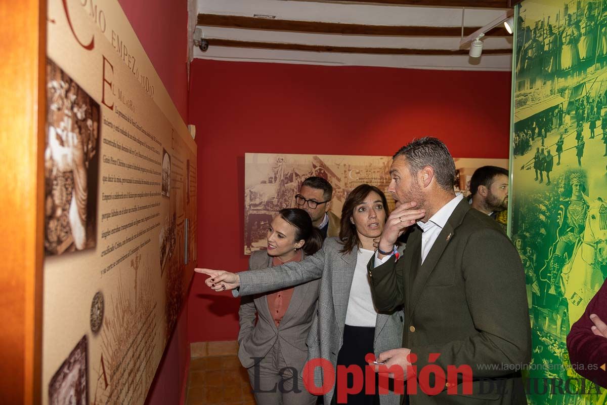
[[[266,43],[258,41],[235,41],[233,39],[205,38],[209,47],[224,46],[237,48],[299,50],[307,52],[371,53],[374,55],[467,55],[467,49],[411,49],[411,48],[371,48],[349,46],[307,45],[290,43]],[[484,49],[483,55],[507,55],[512,49]]]

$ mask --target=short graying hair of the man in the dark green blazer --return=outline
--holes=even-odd
[[[392,158],[401,156],[407,160],[411,174],[415,175],[430,166],[434,169],[436,183],[446,191],[453,191],[455,162],[443,141],[432,137],[414,139],[409,145],[398,149]]]

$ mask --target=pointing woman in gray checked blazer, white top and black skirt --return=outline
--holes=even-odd
[[[318,305],[306,340],[308,361],[320,358],[328,361],[333,371],[336,366],[358,366],[366,372],[367,353],[377,356],[385,350],[398,349],[402,341],[402,310],[378,313],[367,278],[367,262],[375,250],[373,239],[381,235],[387,217],[384,193],[374,186],[360,185],[344,202],[339,238],[327,238],[322,249],[302,262],[238,274],[199,268],[196,271],[211,276],[206,284],[215,291],[238,288],[232,291],[234,296],[320,279]],[[321,387],[324,383],[324,389],[314,391],[324,395],[325,404],[400,403],[399,395],[392,390],[378,395],[377,380],[367,386],[366,378],[362,381],[361,393],[345,395],[344,386],[335,387],[335,375],[325,374],[320,367],[313,369],[313,385]],[[327,381],[328,378],[332,379]],[[353,383],[346,382],[348,387]],[[313,388],[311,385],[308,387]]]

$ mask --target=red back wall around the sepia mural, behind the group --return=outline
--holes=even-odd
[[[245,152],[392,155],[414,137],[455,157],[507,158],[509,72],[195,60],[198,266],[246,270]],[[239,300],[194,276],[189,340],[236,339]]]

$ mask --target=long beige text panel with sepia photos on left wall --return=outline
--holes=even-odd
[[[47,21],[42,403],[141,404],[194,267],[196,146],[117,1]]]

